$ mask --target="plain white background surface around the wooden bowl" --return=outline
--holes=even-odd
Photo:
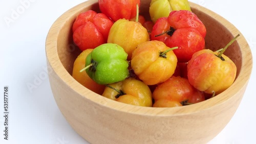
[[[22,2],[29,2],[24,5]],[[88,143],[61,115],[46,72],[45,40],[52,23],[84,1],[0,1],[0,143]],[[255,2],[193,0],[229,20],[256,56]],[[254,4],[253,4],[254,3]],[[17,12],[15,14],[15,12]],[[12,19],[6,22],[7,17]],[[10,20],[9,19],[9,20]],[[253,64],[255,67],[255,63]],[[229,124],[209,143],[256,143],[255,70]],[[35,87],[29,88],[33,84]],[[4,86],[9,86],[9,140],[4,140]],[[220,111],[221,112],[221,111]]]

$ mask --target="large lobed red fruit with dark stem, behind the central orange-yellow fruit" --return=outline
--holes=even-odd
[[[168,17],[159,18],[152,30],[151,40],[163,41],[174,50],[178,62],[188,62],[192,55],[204,49],[206,28],[192,12],[172,11]]]

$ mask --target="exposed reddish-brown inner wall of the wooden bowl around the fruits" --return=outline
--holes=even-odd
[[[97,3],[88,8],[84,8],[83,11],[87,11],[89,9],[99,12]],[[217,51],[223,48],[234,37],[230,30],[226,26],[222,25],[222,23],[220,23],[218,20],[216,20],[215,17],[212,17],[200,11],[200,9],[193,7],[193,4],[191,6],[191,10],[200,18],[200,20],[202,20],[206,27],[206,49]],[[57,52],[59,59],[70,75],[72,75],[73,63],[77,56],[81,53],[78,47],[73,43],[72,38],[72,23],[80,12],[77,12],[76,15],[72,16],[69,21],[65,23],[65,27],[63,27],[60,31],[60,33],[65,34],[60,34],[60,37],[58,37],[57,41]],[[143,5],[140,8],[140,14],[144,15],[147,19],[149,18],[147,5]],[[67,35],[67,37],[62,37],[62,35]],[[238,77],[242,64],[242,53],[238,42],[235,41],[232,45],[230,45],[224,54],[236,64]]]

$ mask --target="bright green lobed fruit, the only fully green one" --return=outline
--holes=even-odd
[[[87,74],[98,84],[111,84],[129,77],[127,54],[115,43],[96,47],[86,58]]]

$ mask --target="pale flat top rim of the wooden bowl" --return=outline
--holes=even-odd
[[[82,11],[86,7],[90,7],[90,5],[93,5],[96,3],[98,3],[97,0],[86,1],[81,4],[78,4],[77,6],[63,13],[60,17],[58,17],[55,20],[46,38],[46,56],[47,56],[47,61],[49,66],[51,66],[54,73],[56,73],[56,75],[63,81],[63,83],[65,83],[72,90],[74,90],[74,92],[77,92],[84,99],[87,99],[98,106],[109,108],[114,111],[122,111],[126,113],[148,115],[148,116],[154,116],[154,115],[175,116],[175,115],[183,115],[183,114],[200,112],[200,111],[207,110],[209,108],[215,108],[218,105],[223,104],[226,100],[233,97],[233,95],[236,95],[236,93],[238,93],[239,91],[242,91],[244,87],[247,86],[247,83],[251,75],[251,70],[252,70],[252,54],[251,54],[250,47],[246,42],[244,36],[241,34],[239,30],[237,30],[236,27],[234,27],[229,21],[227,21],[220,15],[200,5],[189,2],[191,8],[194,8],[194,9],[196,8],[207,15],[209,15],[210,13],[211,14],[209,15],[210,17],[213,17],[213,18],[218,17],[219,19],[221,19],[220,23],[222,25],[229,25],[229,30],[231,30],[230,32],[232,35],[237,35],[238,33],[240,33],[240,37],[237,39],[237,42],[240,46],[241,53],[242,53],[241,70],[238,77],[234,81],[234,83],[228,89],[218,94],[216,97],[205,100],[203,102],[196,103],[193,105],[173,107],[173,108],[154,108],[154,107],[133,106],[133,105],[110,100],[108,98],[102,97],[101,95],[89,90],[88,88],[78,83],[68,73],[66,68],[62,65],[57,52],[57,40],[58,40],[58,34],[63,28],[63,26],[65,25],[65,22],[67,20],[72,20],[70,15],[75,14],[77,11]]]

